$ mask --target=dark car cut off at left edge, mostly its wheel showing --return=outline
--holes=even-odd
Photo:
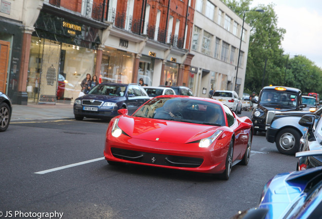
[[[12,104],[9,96],[0,91],[0,132],[6,131],[12,114]]]

